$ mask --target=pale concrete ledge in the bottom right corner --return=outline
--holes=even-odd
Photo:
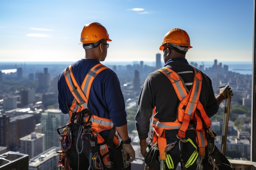
[[[256,162],[229,159],[234,170],[256,170]]]

